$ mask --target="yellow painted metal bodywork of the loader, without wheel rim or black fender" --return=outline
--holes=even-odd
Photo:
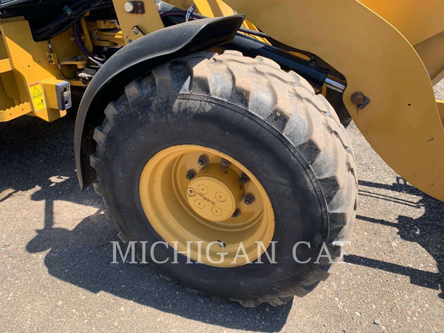
[[[113,1],[115,20],[81,22],[85,46],[118,48],[164,28],[154,1],[144,12],[125,12]],[[341,72],[343,101],[361,133],[377,153],[420,190],[444,200],[444,102],[432,84],[444,77],[444,2],[430,0],[170,0],[205,16],[246,15],[244,28],[261,31],[291,47],[312,52]],[[0,121],[34,115],[46,121],[63,116],[54,108],[52,86],[86,67],[68,30],[48,42],[35,42],[23,17],[0,19]],[[268,43],[267,40],[255,37]],[[79,78],[71,85],[86,86]],[[35,97],[35,89],[43,98]],[[34,89],[34,90],[32,90]],[[360,110],[355,92],[371,100]],[[37,96],[37,97],[40,97]],[[48,100],[49,99],[49,100]],[[36,104],[37,103],[37,104]]]

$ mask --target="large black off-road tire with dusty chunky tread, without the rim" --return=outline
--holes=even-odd
[[[324,242],[338,261],[339,246],[333,242],[351,235],[356,166],[335,111],[301,76],[260,56],[201,52],[134,80],[105,115],[91,155],[95,189],[127,240],[162,240],[142,208],[139,181],[147,162],[174,145],[209,147],[231,156],[258,179],[273,206],[276,264],[264,255],[262,264],[234,267],[186,264],[182,255],[174,264],[172,249],[157,246],[157,260],[169,260],[147,261],[163,277],[254,307],[302,297],[329,276],[333,265],[326,258],[315,261]],[[311,245],[297,247],[300,261],[312,258],[306,264],[293,259],[293,246],[301,241]]]

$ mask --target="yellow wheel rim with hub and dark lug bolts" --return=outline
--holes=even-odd
[[[188,246],[195,262],[241,266],[273,239],[266,190],[250,170],[215,149],[176,145],[159,151],[143,168],[139,194],[159,236],[178,251]]]

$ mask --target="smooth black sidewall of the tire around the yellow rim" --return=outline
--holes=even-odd
[[[108,126],[111,126],[108,124]],[[278,131],[264,120],[229,102],[194,94],[160,95],[143,99],[118,115],[107,131],[99,170],[104,197],[120,230],[133,241],[151,244],[163,239],[151,226],[139,197],[139,179],[148,160],[166,147],[196,144],[220,150],[237,159],[258,178],[269,194],[275,214],[275,260],[262,255],[262,264],[219,268],[186,264],[163,245],[155,247],[151,262],[160,272],[182,285],[224,299],[273,293],[306,285],[322,242],[328,241],[325,199],[309,165]],[[106,167],[105,167],[106,166]],[[298,246],[293,258],[293,246]],[[140,243],[136,243],[140,251]],[[221,277],[221,274],[222,277]]]

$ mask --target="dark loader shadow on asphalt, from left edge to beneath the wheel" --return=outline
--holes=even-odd
[[[8,210],[8,199],[13,194],[37,187],[31,198],[45,202],[44,226],[36,230],[38,234],[29,241],[26,250],[38,253],[50,249],[44,259],[49,274],[94,293],[103,290],[141,305],[213,325],[280,331],[293,301],[275,308],[261,305],[246,309],[237,303],[215,302],[210,297],[188,293],[181,286],[159,278],[157,271],[148,265],[110,264],[111,241],[118,240],[117,229],[101,214],[103,202],[91,188],[79,194],[73,157],[74,123],[73,113],[53,123],[31,117],[0,123],[0,140],[4,147],[0,159],[7,162],[0,171],[1,209]],[[56,200],[93,206],[98,210],[73,230],[59,228],[54,226],[53,219]],[[126,248],[122,243],[121,247]],[[219,311],[221,307],[225,308],[223,316]]]

